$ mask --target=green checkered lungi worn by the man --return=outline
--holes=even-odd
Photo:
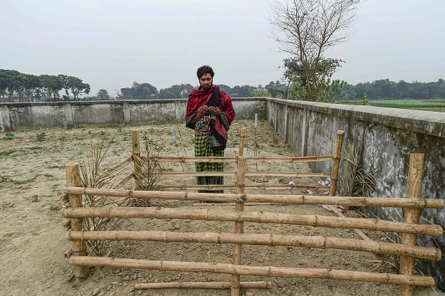
[[[195,157],[224,157],[224,150],[214,152],[211,149],[209,134],[194,134],[194,156]],[[223,171],[222,162],[197,162],[197,171]],[[224,184],[224,176],[197,176],[198,185]],[[209,192],[222,194],[224,190],[198,190],[198,192]]]

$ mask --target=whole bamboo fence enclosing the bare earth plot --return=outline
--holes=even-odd
[[[440,260],[441,251],[437,248],[420,247],[416,245],[418,234],[428,236],[442,236],[443,230],[437,225],[419,224],[419,216],[423,208],[443,208],[444,201],[439,199],[420,198],[419,186],[422,184],[423,158],[412,156],[409,166],[409,183],[406,199],[382,199],[371,197],[335,196],[337,189],[338,170],[340,166],[342,138],[344,132],[337,132],[337,141],[333,156],[315,157],[244,157],[244,139],[246,129],[241,129],[241,139],[238,157],[158,157],[159,162],[232,162],[236,163],[236,171],[225,172],[201,172],[201,173],[162,173],[162,176],[234,176],[234,185],[206,186],[214,190],[220,188],[235,189],[235,193],[225,194],[200,194],[188,192],[190,189],[202,189],[203,186],[177,185],[175,189],[185,191],[140,191],[140,184],[135,179],[136,190],[124,189],[93,189],[82,188],[78,177],[78,164],[70,163],[66,166],[67,186],[63,189],[65,195],[61,203],[69,203],[63,208],[62,215],[70,218],[67,237],[73,241],[73,250],[68,253],[68,263],[75,266],[75,277],[81,279],[88,276],[88,266],[114,266],[120,268],[142,268],[149,270],[172,270],[205,273],[226,273],[231,275],[231,282],[172,282],[137,284],[137,289],[145,288],[172,288],[172,287],[196,287],[209,289],[229,289],[231,296],[239,296],[240,289],[245,287],[271,288],[271,282],[242,282],[241,275],[260,275],[266,277],[308,277],[334,280],[358,280],[366,282],[382,282],[400,286],[401,295],[411,296],[414,286],[432,286],[432,277],[414,274],[414,258],[425,260]],[[140,171],[139,133],[132,132],[132,160],[133,174],[142,174]],[[138,161],[136,161],[138,159]],[[246,171],[246,164],[261,163],[296,163],[296,162],[333,162],[332,171],[325,173],[295,173],[295,172],[271,172],[271,171]],[[129,163],[129,159],[121,162]],[[117,165],[119,166],[119,165]],[[112,169],[117,169],[113,166]],[[246,176],[318,176],[331,178],[330,186],[310,185],[248,185]],[[120,185],[132,178],[132,174],[125,176]],[[420,181],[419,181],[420,180]],[[298,195],[298,194],[246,194],[245,189],[317,189],[329,190],[328,195]],[[182,201],[216,201],[231,202],[235,204],[235,211],[219,211],[211,209],[182,209],[182,208],[142,208],[104,206],[100,208],[83,207],[83,195],[115,196],[128,199],[162,199]],[[245,203],[283,203],[283,204],[326,204],[331,206],[333,216],[320,215],[295,215],[273,213],[266,211],[244,211]],[[404,208],[406,213],[404,222],[383,221],[378,219],[347,218],[342,213],[335,211],[333,205],[345,206],[374,206],[374,207],[398,207]],[[157,218],[157,219],[193,219],[202,221],[232,221],[234,233],[175,233],[169,231],[83,231],[82,219],[90,217],[103,218]],[[276,223],[306,225],[330,228],[354,229],[362,240],[330,238],[324,236],[278,236],[273,233],[249,234],[244,233],[244,222]],[[403,233],[401,244],[383,243],[367,238],[360,229],[375,231],[394,231]],[[177,261],[153,261],[135,260],[130,258],[98,258],[85,256],[85,240],[150,240],[161,242],[184,243],[229,243],[234,245],[231,264],[225,263],[199,263]],[[357,250],[376,254],[390,254],[401,256],[401,274],[388,273],[363,273],[348,270],[325,270],[315,268],[282,268],[274,266],[248,266],[241,264],[242,245],[272,245],[305,248],[335,248],[340,250]]]

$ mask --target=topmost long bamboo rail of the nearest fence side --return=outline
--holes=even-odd
[[[215,187],[216,188],[216,187]],[[248,186],[245,186],[248,188]],[[185,201],[244,201],[249,203],[295,203],[295,204],[342,204],[344,206],[375,206],[393,208],[444,208],[442,199],[400,199],[355,196],[318,196],[298,194],[202,194],[192,192],[135,191],[123,189],[97,189],[65,187],[64,194],[131,197],[137,199],[168,199]]]

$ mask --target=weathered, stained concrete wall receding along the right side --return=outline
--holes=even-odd
[[[336,132],[342,129],[345,131],[342,155],[348,143],[354,143],[359,148],[362,164],[375,169],[378,188],[374,196],[404,197],[404,192],[407,192],[409,154],[424,153],[422,196],[445,199],[445,113],[267,100],[269,122],[286,139],[296,155],[333,154]],[[329,171],[330,165],[315,163],[311,168],[313,171]],[[380,218],[398,218],[397,213],[385,208],[373,208],[368,213]],[[422,217],[445,229],[444,209],[424,210]],[[426,236],[426,243],[437,243],[445,253],[444,236],[436,238],[436,242]],[[445,260],[424,262],[424,265],[434,276],[436,285],[445,290],[445,277],[442,276],[445,273]]]

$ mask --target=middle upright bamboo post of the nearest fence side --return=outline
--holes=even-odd
[[[242,130],[242,129],[241,129]],[[244,131],[245,132],[245,131]],[[244,194],[244,185],[246,184],[246,157],[239,156],[237,162],[238,169],[236,170],[236,193]],[[235,203],[236,211],[244,211],[244,202],[237,201]],[[243,222],[235,222],[235,233],[244,233],[244,223]],[[234,258],[232,263],[241,264],[241,243],[234,244]],[[231,296],[239,296],[239,275],[231,276],[231,288],[230,295]]]

